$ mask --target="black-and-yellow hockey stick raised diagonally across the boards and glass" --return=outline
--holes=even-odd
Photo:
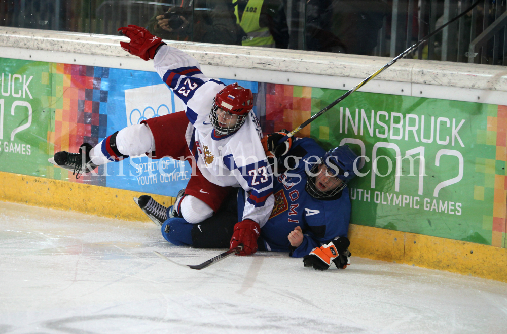
[[[296,129],[294,129],[293,131],[289,132],[287,135],[285,135],[282,139],[280,139],[278,141],[278,145],[280,145],[281,143],[283,143],[284,141],[286,141],[287,139],[291,138],[294,136],[295,133],[297,133],[298,131],[300,131],[301,129],[303,129],[304,127],[306,127],[308,124],[310,124],[312,121],[314,121],[316,118],[320,117],[324,112],[328,111],[329,109],[333,108],[335,105],[337,105],[339,102],[343,101],[343,99],[345,99],[347,96],[349,96],[350,94],[352,94],[353,92],[357,91],[359,88],[363,87],[368,81],[370,81],[371,79],[373,79],[374,77],[376,77],[378,74],[380,74],[383,70],[385,70],[386,68],[388,68],[389,66],[391,66],[392,64],[394,64],[396,61],[398,61],[400,58],[403,58],[405,57],[407,54],[409,54],[412,50],[414,50],[415,48],[417,48],[419,45],[421,45],[422,43],[424,43],[426,40],[428,40],[429,38],[433,37],[434,35],[436,35],[437,33],[439,33],[440,31],[442,31],[442,29],[444,29],[445,27],[447,27],[449,24],[451,24],[452,22],[456,21],[457,19],[459,19],[460,17],[462,17],[463,15],[465,15],[466,13],[468,13],[469,11],[471,11],[472,9],[474,9],[474,7],[476,7],[482,0],[477,0],[475,3],[472,4],[472,6],[468,7],[467,9],[465,9],[461,14],[459,14],[458,16],[454,17],[452,20],[450,20],[449,22],[447,22],[446,24],[442,25],[440,28],[438,28],[437,30],[433,31],[432,33],[430,33],[429,35],[423,37],[421,40],[419,40],[416,44],[414,44],[413,46],[411,46],[410,48],[408,48],[407,50],[405,50],[404,52],[402,52],[401,54],[399,54],[398,56],[396,56],[394,59],[392,59],[390,62],[388,62],[387,64],[385,64],[384,66],[382,66],[381,68],[379,68],[375,73],[373,73],[372,75],[370,75],[369,77],[367,77],[366,79],[364,79],[363,81],[359,82],[359,84],[357,86],[355,86],[354,88],[352,88],[350,91],[346,92],[345,94],[343,94],[342,96],[340,96],[338,99],[336,99],[334,102],[332,102],[329,106],[325,107],[324,109],[320,110],[319,112],[317,112],[315,115],[313,115],[312,117],[310,117],[309,119],[307,119],[303,124],[301,124],[299,127],[297,127]]]

